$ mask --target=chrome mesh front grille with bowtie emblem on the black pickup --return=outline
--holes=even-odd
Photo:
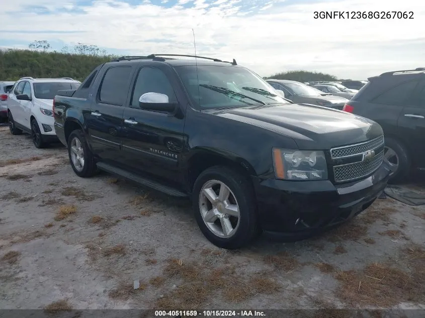
[[[364,143],[332,148],[331,158],[336,159],[333,160],[334,164],[338,162],[333,166],[334,181],[356,180],[373,173],[380,167],[384,158],[383,146],[384,137],[381,136]],[[344,164],[347,160],[350,162]]]

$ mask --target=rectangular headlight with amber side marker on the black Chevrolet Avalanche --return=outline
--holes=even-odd
[[[273,148],[273,165],[277,179],[327,179],[327,166],[323,151]]]

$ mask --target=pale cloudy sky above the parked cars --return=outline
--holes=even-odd
[[[413,19],[314,19],[316,11]],[[14,0],[0,4],[0,47],[47,40],[58,51],[81,42],[111,54],[194,54],[193,29],[199,56],[234,58],[261,76],[366,79],[425,67],[424,18],[417,0]]]

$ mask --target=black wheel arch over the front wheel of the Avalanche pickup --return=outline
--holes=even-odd
[[[196,179],[202,173],[202,171],[213,167],[213,166],[225,166],[230,167],[234,170],[237,170],[241,174],[248,177],[251,173],[250,167],[242,163],[237,163],[230,159],[224,158],[220,155],[215,155],[211,153],[202,153],[195,155],[189,161],[189,186],[190,191],[192,191]]]

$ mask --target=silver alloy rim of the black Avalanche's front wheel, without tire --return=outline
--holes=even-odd
[[[204,184],[199,194],[199,210],[207,228],[216,236],[230,238],[239,226],[239,205],[227,185],[218,180]]]

